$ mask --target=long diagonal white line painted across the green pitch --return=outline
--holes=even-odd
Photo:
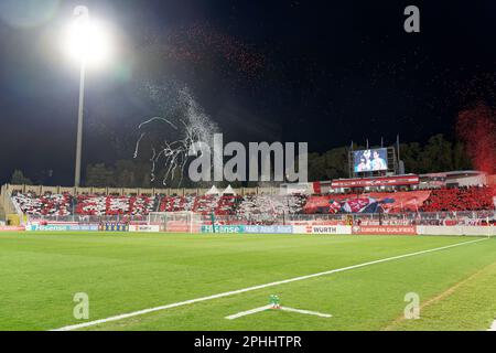
[[[201,302],[201,301],[207,301],[207,300],[213,300],[213,299],[235,296],[235,295],[245,293],[245,292],[254,291],[254,290],[258,290],[258,289],[276,287],[276,286],[280,286],[280,285],[285,285],[285,284],[291,284],[291,282],[300,281],[300,280],[305,280],[305,279],[309,279],[309,278],[315,278],[315,277],[326,276],[326,275],[331,275],[331,274],[343,272],[343,271],[355,269],[355,268],[360,268],[360,267],[366,267],[366,266],[370,266],[370,265],[392,261],[392,260],[397,260],[397,259],[400,259],[400,258],[412,257],[412,256],[417,256],[417,255],[439,252],[439,250],[449,249],[449,248],[456,247],[456,246],[478,243],[478,242],[482,242],[482,240],[487,240],[487,238],[481,238],[481,239],[476,239],[476,240],[456,243],[456,244],[452,244],[452,245],[448,245],[448,246],[436,247],[436,248],[433,248],[433,249],[428,249],[428,250],[421,250],[421,252],[416,252],[416,253],[410,253],[410,254],[405,254],[405,255],[387,257],[387,258],[382,258],[382,259],[379,259],[379,260],[363,263],[363,264],[347,266],[347,267],[343,267],[343,268],[331,269],[331,270],[323,271],[323,272],[305,275],[305,276],[300,276],[300,277],[293,277],[293,278],[283,279],[283,280],[279,280],[279,281],[274,281],[274,282],[270,282],[270,284],[265,284],[265,285],[242,288],[242,289],[233,290],[233,291],[226,291],[226,292],[223,292],[223,293],[213,295],[213,296],[208,296],[208,297],[201,297],[201,298],[196,298],[196,299],[190,299],[190,300],[185,300],[185,301],[174,302],[174,303],[160,306],[160,307],[155,307],[155,308],[149,308],[149,309],[143,309],[143,310],[139,310],[139,311],[132,311],[132,312],[128,312],[128,313],[123,313],[123,314],[119,314],[119,315],[115,315],[115,317],[109,317],[109,318],[106,318],[106,319],[99,319],[99,320],[83,322],[83,323],[78,323],[78,324],[72,324],[72,325],[63,327],[63,328],[55,329],[55,330],[52,330],[52,331],[72,331],[72,330],[94,327],[94,325],[97,325],[97,324],[100,324],[100,323],[107,323],[107,322],[111,322],[111,321],[123,320],[123,319],[128,319],[128,318],[133,318],[133,317],[142,315],[142,314],[147,314],[147,313],[150,313],[150,312],[155,312],[155,311],[161,311],[161,310],[166,310],[166,309],[188,306],[188,304],[193,304],[193,303]]]

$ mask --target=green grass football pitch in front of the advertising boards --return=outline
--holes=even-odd
[[[0,330],[51,330],[257,285],[443,247],[470,237],[0,234]],[[420,319],[405,320],[405,296]],[[331,313],[320,318],[268,304]],[[487,330],[496,314],[496,240],[425,253],[161,310],[85,330]]]

